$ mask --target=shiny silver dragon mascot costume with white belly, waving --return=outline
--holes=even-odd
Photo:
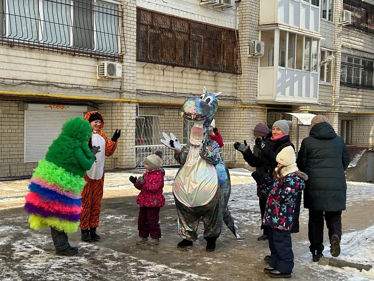
[[[228,208],[231,192],[230,174],[218,144],[209,137],[209,129],[218,109],[218,93],[205,92],[200,98],[187,98],[181,114],[194,122],[190,139],[182,148],[174,134],[163,133],[161,142],[175,150],[174,157],[183,165],[173,182],[173,195],[178,213],[178,232],[183,238],[179,248],[192,246],[197,240],[197,227],[202,218],[207,251],[214,251],[222,224],[241,239],[234,217]]]

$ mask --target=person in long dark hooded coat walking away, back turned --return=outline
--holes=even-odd
[[[345,210],[344,170],[351,157],[343,139],[335,133],[328,119],[316,115],[309,136],[304,138],[297,156],[297,167],[308,175],[304,207],[309,209],[308,238],[313,262],[323,256],[323,217],[329,229],[330,252],[340,254],[341,211]]]

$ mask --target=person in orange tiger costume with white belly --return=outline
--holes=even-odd
[[[96,161],[84,176],[87,181],[82,193],[82,215],[80,225],[82,241],[98,241],[101,237],[96,233],[100,215],[101,203],[104,189],[104,159],[111,156],[117,148],[117,140],[121,130],[116,129],[111,140],[102,131],[104,127],[103,115],[98,111],[90,111],[86,114],[87,120],[92,127],[92,136],[88,146],[100,146],[101,152],[96,154]]]

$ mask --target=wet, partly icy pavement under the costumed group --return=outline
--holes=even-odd
[[[244,240],[236,240],[224,226],[216,250],[207,252],[202,224],[198,240],[192,247],[177,248],[181,238],[177,232],[177,212],[171,193],[172,179],[177,171],[166,169],[166,204],[160,212],[160,245],[135,244],[139,211],[135,199],[139,191],[128,178],[130,175],[139,176],[143,171],[117,171],[106,174],[102,213],[97,228],[102,240],[82,242],[80,232],[72,233],[69,243],[77,246],[79,253],[71,257],[55,254],[49,229],[30,229],[28,216],[22,207],[23,196],[28,191],[28,180],[0,181],[0,280],[272,279],[263,272],[267,266],[263,258],[269,254],[269,250],[267,241],[257,241],[262,234],[260,212],[256,185],[250,173],[242,169],[230,170],[232,195],[229,205]],[[344,231],[360,230],[374,224],[370,214],[360,222],[351,218],[368,204],[365,200],[370,198],[362,199],[360,204],[353,204],[348,212],[343,213],[343,224],[350,223],[350,227]],[[352,280],[344,272],[312,262],[307,238],[307,215],[307,210],[302,208],[301,232],[292,235],[295,255],[292,278]],[[328,247],[325,252],[328,253]]]

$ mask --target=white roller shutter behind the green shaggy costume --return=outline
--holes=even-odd
[[[66,120],[85,112],[87,106],[29,104],[24,111],[24,161],[43,159]]]

